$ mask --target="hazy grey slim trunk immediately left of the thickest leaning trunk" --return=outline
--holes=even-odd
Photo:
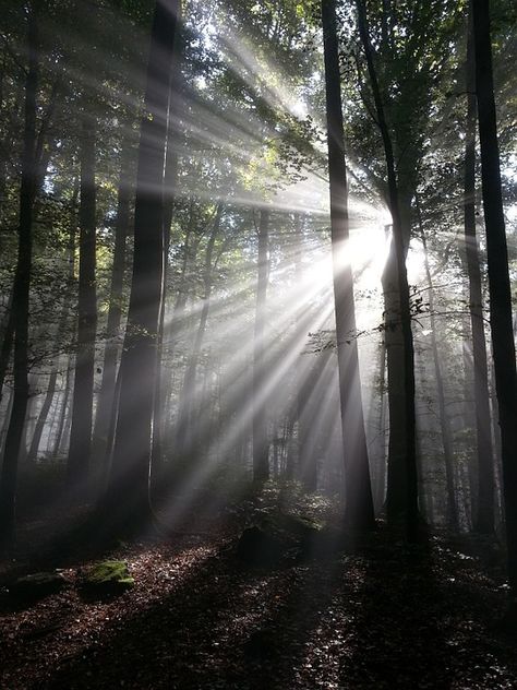
[[[117,201],[117,223],[115,227],[113,265],[109,292],[108,323],[106,328],[106,347],[104,350],[103,380],[95,415],[93,456],[101,464],[106,456],[109,419],[115,400],[117,359],[120,350],[120,324],[122,320],[122,299],[125,272],[125,240],[130,226],[130,205],[132,189],[131,145],[125,143],[120,160],[120,178]],[[97,469],[101,471],[100,467]]]

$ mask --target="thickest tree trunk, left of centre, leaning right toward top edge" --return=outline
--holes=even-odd
[[[135,527],[151,518],[152,424],[164,276],[164,164],[178,7],[178,0],[157,1],[151,35],[136,174],[133,276],[104,503],[106,514],[118,523],[117,530]]]

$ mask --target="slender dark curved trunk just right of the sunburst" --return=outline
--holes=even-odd
[[[399,294],[400,313],[398,323],[394,322],[394,329],[401,330],[402,342],[402,384],[404,384],[404,426],[406,428],[406,444],[404,449],[404,474],[397,473],[397,483],[393,480],[393,464],[388,464],[388,490],[386,498],[386,512],[390,522],[402,520],[407,527],[408,537],[412,540],[417,537],[419,524],[419,504],[418,504],[418,468],[417,468],[417,424],[414,413],[414,348],[411,331],[411,306],[409,297],[408,275],[406,270],[406,251],[402,235],[402,215],[400,204],[400,193],[397,183],[397,175],[395,171],[395,156],[393,151],[392,138],[387,126],[384,104],[381,96],[381,90],[377,82],[377,75],[374,64],[373,48],[370,40],[368,20],[363,0],[357,0],[359,32],[366,58],[368,71],[370,75],[370,84],[372,87],[373,98],[375,103],[375,111],[377,116],[378,128],[384,145],[384,154],[386,157],[387,182],[388,182],[388,201],[389,211],[393,219],[393,240],[390,252],[393,260],[396,262],[397,275],[394,289]],[[389,356],[389,354],[388,354]],[[393,384],[389,378],[388,367],[388,385]],[[396,432],[393,427],[394,419],[392,417],[392,406],[389,407],[389,436]],[[392,476],[390,476],[392,475]]]

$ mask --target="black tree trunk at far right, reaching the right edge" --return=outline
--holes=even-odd
[[[508,250],[501,190],[500,152],[495,116],[490,5],[472,0],[476,56],[476,92],[481,147],[481,182],[486,227],[490,289],[490,325],[497,396],[503,464],[508,576],[517,596],[517,372],[512,323]]]

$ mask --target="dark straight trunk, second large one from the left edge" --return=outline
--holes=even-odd
[[[87,107],[86,105],[84,106]],[[67,465],[70,488],[86,489],[92,452],[94,405],[96,296],[96,193],[95,121],[83,110],[81,118],[81,205],[79,210],[77,354],[72,402],[72,426]]]

